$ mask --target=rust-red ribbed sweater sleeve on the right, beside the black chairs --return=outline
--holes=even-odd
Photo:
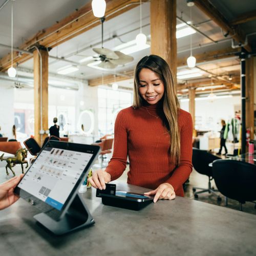
[[[192,137],[193,121],[191,115],[187,113],[180,131],[180,164],[173,171],[173,175],[166,181],[174,187],[174,191],[179,189],[188,179],[192,171]]]

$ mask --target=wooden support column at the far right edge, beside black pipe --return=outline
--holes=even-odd
[[[254,135],[254,87],[256,87],[254,73],[255,58],[250,57],[246,59],[246,77],[245,77],[245,124],[246,129],[250,129],[250,139]]]

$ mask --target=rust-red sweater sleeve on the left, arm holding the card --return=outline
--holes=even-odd
[[[113,156],[105,169],[111,175],[111,181],[123,174],[127,163],[127,132],[123,116],[123,111],[120,111],[116,117]]]

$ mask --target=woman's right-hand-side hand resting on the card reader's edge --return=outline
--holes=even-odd
[[[149,191],[147,193],[144,193],[144,195],[146,196],[154,196],[154,203],[156,203],[156,201],[158,199],[175,199],[176,195],[175,195],[175,191],[174,191],[174,187],[172,185],[170,185],[169,183],[163,183],[161,185],[158,186],[158,188],[156,188],[155,190]]]

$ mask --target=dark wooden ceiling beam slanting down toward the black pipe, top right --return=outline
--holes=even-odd
[[[239,30],[238,27],[232,27],[227,19],[219,12],[215,6],[213,6],[208,0],[194,0],[195,5],[210,19],[212,19],[218,26],[220,26],[227,35],[232,36],[237,42],[244,44],[245,36]],[[250,52],[251,47],[249,45],[244,46],[244,48]]]

